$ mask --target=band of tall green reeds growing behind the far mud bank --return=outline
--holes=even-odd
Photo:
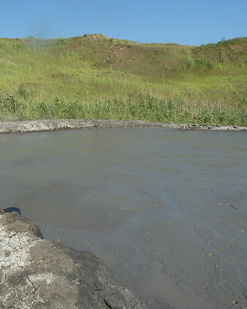
[[[29,101],[28,101],[29,100]],[[15,95],[0,96],[1,120],[34,119],[138,119],[155,122],[208,123],[247,126],[247,106],[208,102],[199,97],[172,95],[158,98],[148,93],[129,92],[111,99],[50,102],[30,101],[23,88]]]

